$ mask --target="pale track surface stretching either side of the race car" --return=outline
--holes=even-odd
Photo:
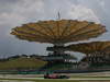
[[[67,73],[64,73],[67,74]],[[65,80],[77,80],[77,81],[96,81],[96,80],[101,80],[101,81],[110,81],[110,72],[95,72],[95,73],[69,73],[67,75],[70,75],[70,79],[65,79]],[[46,80],[43,78],[43,74],[0,74],[0,79],[8,80],[8,79],[22,79],[22,80]],[[57,80],[57,79],[54,79]],[[58,79],[58,80],[64,80],[64,79]],[[0,82],[3,82],[0,80]],[[8,82],[8,81],[6,81]],[[11,82],[11,81],[9,81]],[[13,81],[13,82],[19,82],[19,81]]]

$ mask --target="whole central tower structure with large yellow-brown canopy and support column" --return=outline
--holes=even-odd
[[[58,15],[59,17],[59,15]],[[50,20],[23,24],[12,28],[16,38],[53,44],[45,58],[48,65],[72,63],[76,58],[66,54],[65,44],[95,38],[106,32],[106,27],[94,22],[77,20]]]

